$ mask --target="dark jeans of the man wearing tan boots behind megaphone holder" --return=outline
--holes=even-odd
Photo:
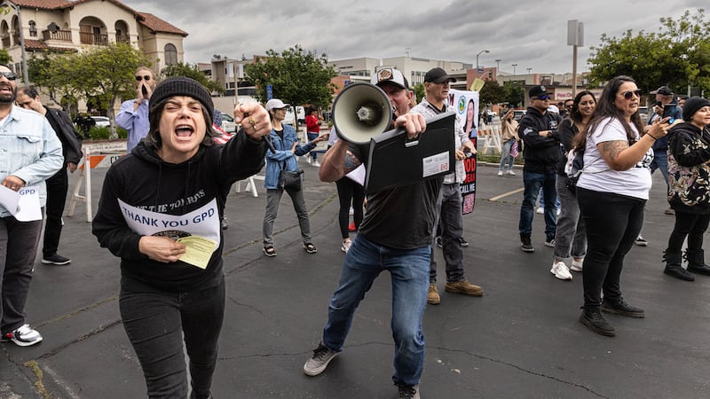
[[[446,282],[455,283],[465,278],[463,272],[463,215],[461,215],[460,184],[442,184],[437,201],[437,220],[441,222],[441,247],[446,262]],[[432,237],[435,239],[435,237]],[[437,261],[434,258],[436,242],[432,241],[429,282],[437,282]]]

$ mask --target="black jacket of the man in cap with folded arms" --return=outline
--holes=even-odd
[[[523,140],[523,169],[532,173],[555,173],[557,162],[562,158],[560,136],[557,131],[560,116],[556,113],[540,113],[532,106],[520,118],[517,135]],[[551,130],[551,137],[540,136],[540,131]]]

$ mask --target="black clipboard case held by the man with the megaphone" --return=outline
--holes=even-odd
[[[392,129],[370,139],[365,192],[447,175],[455,169],[454,111],[428,119],[427,129],[414,140],[405,129]]]

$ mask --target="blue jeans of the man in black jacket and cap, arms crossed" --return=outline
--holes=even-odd
[[[535,200],[537,200],[538,192],[542,187],[542,196],[548,204],[554,204],[557,201],[557,192],[555,183],[557,174],[551,173],[533,173],[523,170],[523,204],[520,206],[520,235],[530,237],[533,234],[533,216],[535,215]],[[557,230],[557,210],[555,207],[545,207],[545,237],[554,239]]]

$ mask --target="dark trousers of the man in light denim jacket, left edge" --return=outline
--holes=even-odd
[[[32,267],[42,233],[42,221],[18,222],[12,216],[0,218],[0,332],[11,332],[25,324]]]

